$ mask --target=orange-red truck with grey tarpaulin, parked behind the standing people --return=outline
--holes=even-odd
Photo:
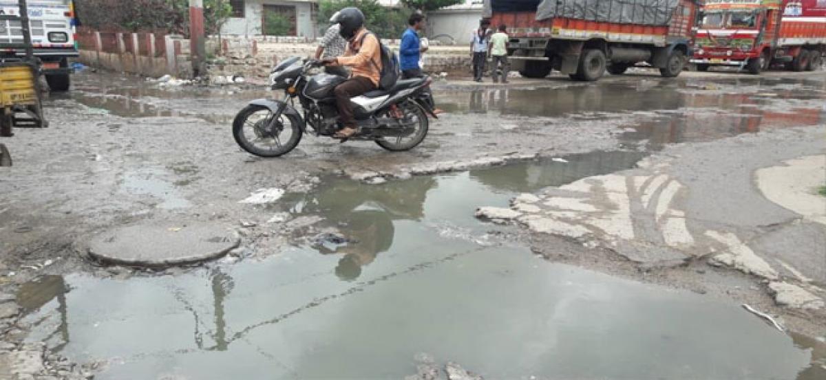
[[[523,77],[552,70],[577,81],[645,63],[676,77],[691,57],[696,0],[485,0],[491,26],[505,25],[511,67]]]

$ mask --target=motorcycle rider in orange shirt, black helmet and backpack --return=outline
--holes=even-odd
[[[349,138],[358,132],[350,98],[378,87],[382,56],[378,39],[364,27],[364,14],[358,8],[346,7],[330,21],[339,24],[339,34],[348,41],[347,51],[343,56],[324,59],[322,63],[353,69],[350,78],[334,90],[335,106],[338,107],[341,123],[344,124],[344,128],[336,132],[335,137]]]

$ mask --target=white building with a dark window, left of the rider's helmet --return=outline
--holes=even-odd
[[[287,35],[314,39],[316,30],[317,0],[229,0],[232,17],[221,28],[223,35],[263,35],[264,22],[270,14],[280,14],[292,23]]]

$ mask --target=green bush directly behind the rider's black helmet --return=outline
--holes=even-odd
[[[407,17],[411,15],[408,8],[384,7],[375,0],[321,0],[318,20],[322,30],[327,29],[330,17],[341,8],[357,7],[364,13],[364,24],[381,38],[399,39],[407,28]]]

